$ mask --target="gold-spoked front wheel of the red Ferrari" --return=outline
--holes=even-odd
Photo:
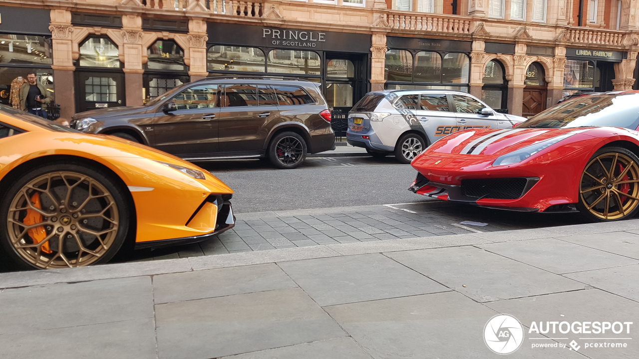
[[[581,174],[577,208],[598,222],[633,217],[639,210],[639,158],[625,148],[599,149]]]

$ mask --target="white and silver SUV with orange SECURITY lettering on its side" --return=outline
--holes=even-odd
[[[373,157],[394,152],[410,164],[430,144],[466,128],[512,128],[526,118],[500,114],[461,91],[393,90],[367,93],[348,114],[346,139]]]

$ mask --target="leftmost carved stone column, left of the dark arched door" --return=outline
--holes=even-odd
[[[51,10],[53,46],[54,99],[60,105],[60,117],[71,120],[75,114],[75,92],[73,72],[73,26],[71,13],[66,10]]]

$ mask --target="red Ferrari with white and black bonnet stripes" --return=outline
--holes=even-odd
[[[580,211],[594,221],[639,210],[639,92],[573,98],[512,130],[471,128],[416,157],[409,188],[514,211]]]

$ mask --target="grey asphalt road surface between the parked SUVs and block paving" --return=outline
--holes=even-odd
[[[235,190],[236,213],[433,201],[408,191],[417,172],[393,157],[308,158],[292,170],[260,160],[198,165]]]

